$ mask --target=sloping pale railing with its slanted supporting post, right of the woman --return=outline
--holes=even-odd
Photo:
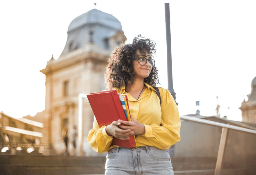
[[[219,151],[218,151],[214,175],[221,175],[222,161],[223,161],[223,157],[224,157],[224,152],[225,152],[229,129],[256,134],[255,130],[242,128],[242,127],[238,127],[238,126],[233,126],[233,125],[229,125],[229,124],[224,124],[224,123],[219,123],[219,122],[215,122],[215,121],[205,120],[205,119],[201,119],[201,118],[196,118],[196,117],[191,117],[191,116],[186,116],[186,115],[180,116],[180,118],[183,120],[189,120],[192,122],[198,122],[198,123],[204,123],[204,124],[208,124],[208,125],[222,127],[221,139],[220,139],[220,145],[219,145]]]

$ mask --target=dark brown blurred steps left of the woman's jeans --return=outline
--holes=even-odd
[[[105,162],[105,157],[0,155],[0,174],[104,174]]]

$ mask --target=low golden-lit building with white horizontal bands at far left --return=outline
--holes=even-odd
[[[0,112],[0,154],[31,155],[34,150],[33,154],[48,154],[48,145],[42,143],[43,128],[43,123]]]

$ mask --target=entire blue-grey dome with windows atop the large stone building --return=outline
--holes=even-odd
[[[97,53],[102,50],[111,52],[125,40],[118,19],[111,14],[93,9],[76,17],[69,24],[66,45],[60,58],[71,52],[73,54],[91,52],[90,49],[88,50],[91,45],[99,48]]]

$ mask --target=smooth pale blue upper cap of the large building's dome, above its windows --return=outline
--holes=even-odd
[[[93,9],[73,19],[68,26],[67,32],[90,23],[99,23],[115,30],[122,30],[121,23],[114,16],[97,9]]]

